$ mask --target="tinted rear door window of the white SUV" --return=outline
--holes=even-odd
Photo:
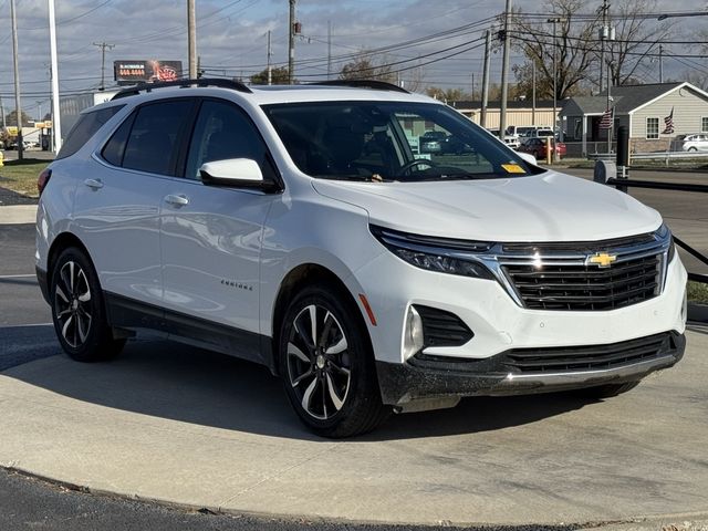
[[[179,132],[191,100],[159,102],[140,107],[123,155],[123,167],[170,175]]]

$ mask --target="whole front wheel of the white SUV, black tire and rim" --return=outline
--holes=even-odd
[[[290,404],[308,428],[331,438],[371,431],[391,412],[381,400],[361,314],[339,293],[326,285],[302,290],[285,312],[278,342]]]

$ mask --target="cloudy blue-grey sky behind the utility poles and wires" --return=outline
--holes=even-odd
[[[613,0],[611,0],[612,3]],[[614,0],[616,1],[616,0]],[[101,48],[105,42],[106,85],[113,83],[115,60],[178,60],[187,67],[186,0],[55,0],[60,92],[85,92],[101,84]],[[656,0],[652,12],[678,12],[678,2]],[[493,18],[503,11],[503,0],[298,0],[296,19],[302,35],[295,43],[295,77],[315,81],[327,76],[327,34],[334,75],[361,50],[399,46],[385,60],[395,63],[402,81],[442,88],[472,87],[479,97],[483,48],[479,39]],[[583,3],[593,12],[598,0]],[[524,12],[542,12],[543,2],[512,0]],[[50,52],[48,0],[15,0],[22,108],[30,116],[49,108]],[[271,31],[272,62],[287,64],[288,0],[196,0],[197,53],[206,75],[248,77],[267,64],[267,33]],[[680,12],[708,11],[706,0],[683,0]],[[652,24],[669,23],[652,20]],[[689,40],[708,17],[674,19],[676,40]],[[450,33],[458,28],[467,28]],[[427,35],[442,33],[427,42]],[[409,41],[414,41],[413,43]],[[14,108],[10,0],[0,0],[0,95],[6,111]],[[444,51],[448,50],[448,51]],[[696,53],[673,45],[675,53]],[[447,59],[442,59],[447,58]],[[512,52],[511,62],[521,56]],[[406,70],[416,64],[416,70]],[[697,59],[708,72],[708,62]],[[693,63],[691,63],[693,64]],[[694,64],[695,65],[695,64]],[[665,76],[678,76],[686,63],[665,61]],[[491,58],[491,81],[499,82],[501,53]],[[657,69],[647,64],[642,81],[658,82]],[[473,85],[472,85],[473,82]]]

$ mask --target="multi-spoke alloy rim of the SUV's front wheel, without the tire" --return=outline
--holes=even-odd
[[[302,409],[319,420],[344,406],[352,382],[348,343],[336,317],[316,304],[303,308],[288,340],[288,376]]]

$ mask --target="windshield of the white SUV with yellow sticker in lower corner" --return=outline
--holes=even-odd
[[[445,105],[308,102],[263,110],[293,162],[312,177],[417,181],[543,171]]]

